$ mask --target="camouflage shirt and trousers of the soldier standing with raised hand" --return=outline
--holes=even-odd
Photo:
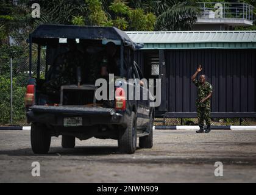
[[[197,87],[197,99],[196,99],[196,109],[199,127],[204,126],[204,120],[207,127],[210,126],[210,98],[204,102],[200,102],[202,99],[206,98],[209,93],[213,93],[213,87],[210,83],[205,82],[202,85],[198,80],[193,81],[194,85]]]

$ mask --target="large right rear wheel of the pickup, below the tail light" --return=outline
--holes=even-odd
[[[135,113],[129,117],[128,126],[118,140],[118,147],[122,153],[133,154],[137,147],[137,122]]]

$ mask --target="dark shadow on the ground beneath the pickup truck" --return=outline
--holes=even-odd
[[[140,147],[137,147],[139,150]],[[62,147],[51,147],[48,154],[34,154],[30,147],[0,151],[0,155],[9,156],[89,156],[89,155],[110,155],[122,154],[116,146],[76,146],[71,149]],[[1,158],[1,157],[0,157]]]

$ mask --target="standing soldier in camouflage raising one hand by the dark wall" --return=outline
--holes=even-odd
[[[213,87],[210,83],[206,82],[204,74],[200,75],[199,81],[196,80],[197,74],[201,71],[202,68],[201,65],[199,65],[196,73],[194,73],[194,75],[191,77],[192,82],[197,87],[196,110],[200,129],[197,130],[196,133],[204,133],[204,120],[207,124],[205,133],[208,133],[211,130],[210,98],[213,93]]]

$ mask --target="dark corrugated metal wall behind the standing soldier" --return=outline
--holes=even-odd
[[[146,52],[135,54],[144,66]],[[255,49],[166,49],[165,63],[167,112],[196,112],[196,87],[190,78],[199,64],[213,85],[211,112],[256,112]]]

